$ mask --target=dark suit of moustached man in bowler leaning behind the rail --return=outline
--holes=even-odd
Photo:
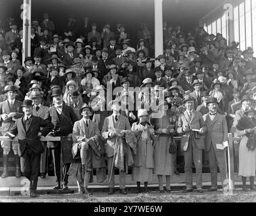
[[[78,117],[74,113],[72,107],[69,107],[65,103],[62,104],[61,115],[57,112],[55,106],[49,108],[49,119],[54,125],[54,130],[57,131],[55,136],[68,136],[72,134],[74,122],[78,120]],[[55,161],[55,175],[57,177],[57,184],[68,185],[68,169],[70,163],[63,164],[63,175],[61,179],[61,143],[55,142],[55,148],[52,151]]]

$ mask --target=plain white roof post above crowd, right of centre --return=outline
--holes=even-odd
[[[163,54],[163,0],[155,1],[155,57]]]

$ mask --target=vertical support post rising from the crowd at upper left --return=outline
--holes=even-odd
[[[22,62],[30,56],[31,32],[31,0],[23,0],[23,37],[22,37]]]

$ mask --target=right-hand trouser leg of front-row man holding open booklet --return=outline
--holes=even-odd
[[[202,150],[197,148],[195,144],[193,145],[193,161],[195,164],[196,168],[196,174],[197,174],[197,189],[202,188],[202,167],[203,167],[203,162],[202,162]]]

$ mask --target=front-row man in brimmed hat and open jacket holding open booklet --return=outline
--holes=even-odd
[[[186,190],[184,192],[193,192],[193,175],[192,164],[194,161],[197,173],[197,192],[202,190],[202,151],[205,149],[205,143],[202,134],[205,134],[207,128],[203,121],[203,115],[195,111],[195,99],[186,94],[183,99],[186,107],[178,118],[177,132],[182,134],[180,147],[184,152],[185,173],[186,173]]]

